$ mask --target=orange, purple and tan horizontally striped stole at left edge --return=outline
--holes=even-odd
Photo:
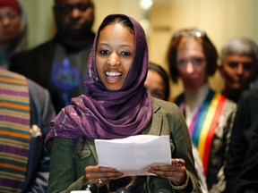
[[[22,192],[30,148],[25,77],[0,69],[0,192]]]

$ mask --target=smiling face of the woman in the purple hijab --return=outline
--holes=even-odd
[[[99,79],[109,90],[120,90],[133,62],[134,35],[127,27],[113,23],[102,29],[96,51]]]

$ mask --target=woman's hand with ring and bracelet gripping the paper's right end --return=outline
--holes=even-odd
[[[152,165],[148,168],[147,172],[168,179],[176,186],[184,184],[187,177],[185,160],[179,158],[172,159],[169,165]]]

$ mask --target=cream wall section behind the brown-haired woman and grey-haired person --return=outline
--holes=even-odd
[[[150,14],[150,60],[168,69],[168,42],[182,28],[205,30],[218,52],[229,38],[245,36],[258,42],[257,7],[256,0],[156,0]],[[219,71],[210,82],[217,91],[224,87]],[[172,84],[172,96],[181,91],[182,84]]]

